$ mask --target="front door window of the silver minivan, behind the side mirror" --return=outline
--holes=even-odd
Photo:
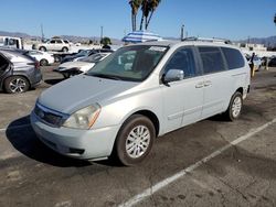
[[[192,48],[181,48],[174,53],[164,68],[164,73],[170,69],[180,69],[184,72],[184,78],[195,76],[195,62]]]

